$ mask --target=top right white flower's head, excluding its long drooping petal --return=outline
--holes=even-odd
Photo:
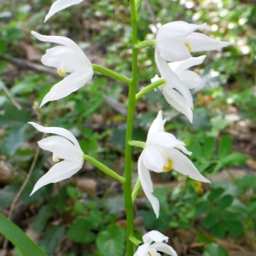
[[[191,56],[191,52],[221,49],[230,45],[195,32],[206,26],[184,21],[169,22],[161,26],[156,34],[156,49],[166,61],[183,61]]]

